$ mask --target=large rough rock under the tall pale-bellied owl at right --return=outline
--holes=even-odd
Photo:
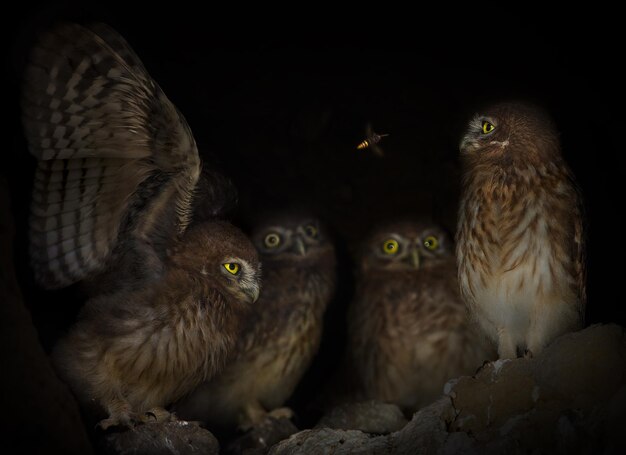
[[[450,429],[473,434],[485,448],[497,445],[496,452],[597,448],[604,444],[594,427],[604,425],[624,384],[624,329],[594,325],[560,337],[536,358],[496,361],[460,378],[449,391],[458,413]]]

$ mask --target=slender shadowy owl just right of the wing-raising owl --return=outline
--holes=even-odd
[[[218,427],[255,426],[281,408],[320,344],[335,288],[333,245],[320,222],[287,212],[253,232],[263,264],[261,297],[234,356],[219,375],[177,407],[181,417]]]

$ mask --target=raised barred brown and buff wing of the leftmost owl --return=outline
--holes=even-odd
[[[37,158],[31,260],[44,287],[102,271],[121,237],[153,247],[185,230],[200,158],[183,116],[126,41],[98,24],[44,34],[22,117]]]

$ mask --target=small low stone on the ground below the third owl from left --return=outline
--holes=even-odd
[[[327,427],[388,434],[400,430],[406,424],[404,414],[395,404],[366,401],[345,403],[335,407],[320,419],[316,428]]]

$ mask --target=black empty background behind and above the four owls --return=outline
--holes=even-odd
[[[588,215],[587,322],[626,325],[624,37],[615,12],[546,15],[531,5],[477,4],[455,17],[399,7],[338,17],[303,4],[255,16],[243,5],[206,6],[208,13],[179,2],[25,3],[5,17],[13,146],[3,151],[2,172],[21,226],[18,272],[46,349],[76,308],[54,302],[62,294],[39,293],[29,277],[24,226],[34,160],[18,98],[29,43],[57,19],[103,21],[127,39],[185,115],[206,161],[234,180],[238,223],[290,204],[328,222],[341,281],[323,354],[340,351],[352,245],[374,223],[404,215],[433,217],[453,233],[462,130],[480,106],[503,99],[533,101],[555,119]],[[355,149],[367,122],[390,133],[384,158]],[[329,362],[318,359],[308,381],[316,383]]]

